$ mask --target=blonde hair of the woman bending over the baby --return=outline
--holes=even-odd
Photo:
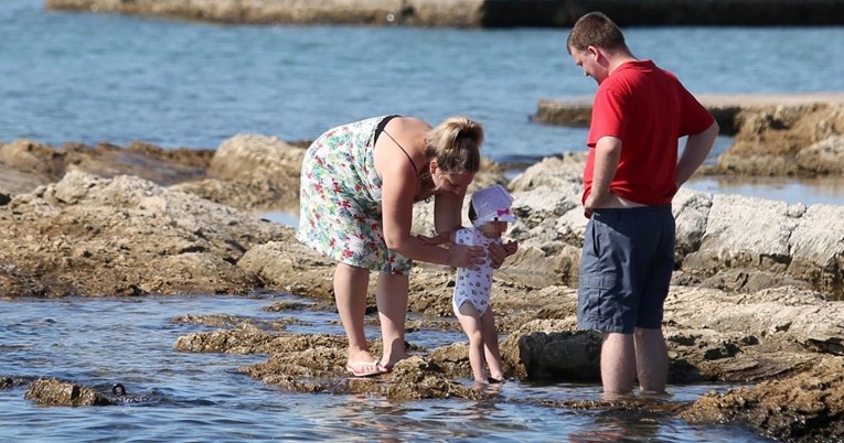
[[[428,132],[425,156],[437,159],[440,170],[461,174],[481,169],[483,126],[466,117],[449,117]]]

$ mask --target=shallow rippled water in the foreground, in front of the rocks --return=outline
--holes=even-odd
[[[119,382],[132,400],[113,407],[39,407],[24,400],[25,386],[0,389],[0,441],[767,441],[736,426],[692,426],[670,417],[539,406],[539,400],[598,400],[599,386],[509,381],[498,400],[392,403],[376,397],[284,391],[238,372],[241,366],[266,360],[264,355],[173,349],[180,335],[213,329],[171,322],[178,315],[271,320],[282,314],[261,307],[286,299],[292,296],[0,301],[0,377],[55,377],[107,396]],[[342,333],[335,314],[292,315],[302,325],[290,332]],[[376,331],[367,334],[377,336]],[[434,347],[461,337],[419,331],[408,333],[407,339]],[[675,401],[725,389],[669,388]]]

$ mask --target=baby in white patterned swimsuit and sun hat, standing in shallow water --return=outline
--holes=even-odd
[[[473,227],[458,229],[451,241],[484,247],[493,241],[501,245],[501,236],[506,231],[508,223],[515,222],[511,212],[512,204],[513,197],[501,185],[476,192],[469,204],[469,219]],[[515,242],[509,246],[511,249],[516,247]],[[489,258],[477,271],[458,268],[451,301],[455,314],[469,337],[469,363],[476,383],[498,383],[504,380],[495,318],[490,305],[492,271]],[[484,374],[484,360],[490,370],[489,379]]]

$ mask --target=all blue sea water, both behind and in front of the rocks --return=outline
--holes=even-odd
[[[0,142],[216,148],[242,132],[310,140],[359,118],[399,112],[435,122],[466,114],[484,123],[485,155],[537,160],[583,149],[586,130],[535,125],[541,98],[591,95],[565,53],[567,30],[248,26],[45,11],[41,0],[0,4]],[[844,90],[844,28],[643,28],[634,53],[674,71],[694,93]],[[822,51],[806,48],[822,47]],[[719,140],[715,154],[729,145]],[[693,187],[804,203],[842,201],[835,184]],[[281,223],[290,216],[277,215]],[[735,426],[670,417],[538,406],[598,399],[599,387],[509,382],[488,402],[389,403],[361,396],[286,392],[238,367],[267,356],[178,353],[178,336],[209,328],[181,314],[270,318],[281,298],[140,298],[0,301],[0,442],[140,441],[570,441],[761,442]],[[285,314],[287,315],[287,314]],[[336,315],[300,312],[297,333],[341,334]],[[371,331],[375,337],[377,331]],[[456,333],[413,332],[426,347]],[[36,407],[26,383],[55,377],[116,407]],[[463,380],[469,382],[469,380]],[[692,401],[714,386],[671,387]]]

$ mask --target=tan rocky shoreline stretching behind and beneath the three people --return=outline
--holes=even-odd
[[[291,227],[256,215],[295,210],[302,154],[302,144],[257,134],[235,136],[215,151],[0,144],[0,230],[7,233],[0,296],[271,291],[313,304],[270,309],[333,311],[332,263],[299,245]],[[473,184],[501,183],[515,197],[519,222],[509,236],[520,251],[496,273],[492,295],[511,378],[598,382],[599,338],[575,328],[583,164],[581,154],[547,158],[508,180],[505,168],[488,161]],[[430,210],[416,208],[416,231],[430,231]],[[671,382],[747,387],[691,403],[630,398],[545,406],[741,423],[783,441],[844,439],[844,206],[682,190],[674,214],[677,269],[665,323]],[[441,320],[451,315],[452,279],[447,269],[417,269],[409,311],[423,320],[408,327],[453,327]],[[220,329],[180,337],[177,349],[269,354],[242,370],[285,389],[393,400],[494,395],[455,381],[470,374],[462,343],[436,349],[410,343],[413,358],[388,376],[348,379],[343,337],[288,334],[249,318],[181,321]],[[102,401],[73,380],[26,382],[28,398],[40,403]]]

